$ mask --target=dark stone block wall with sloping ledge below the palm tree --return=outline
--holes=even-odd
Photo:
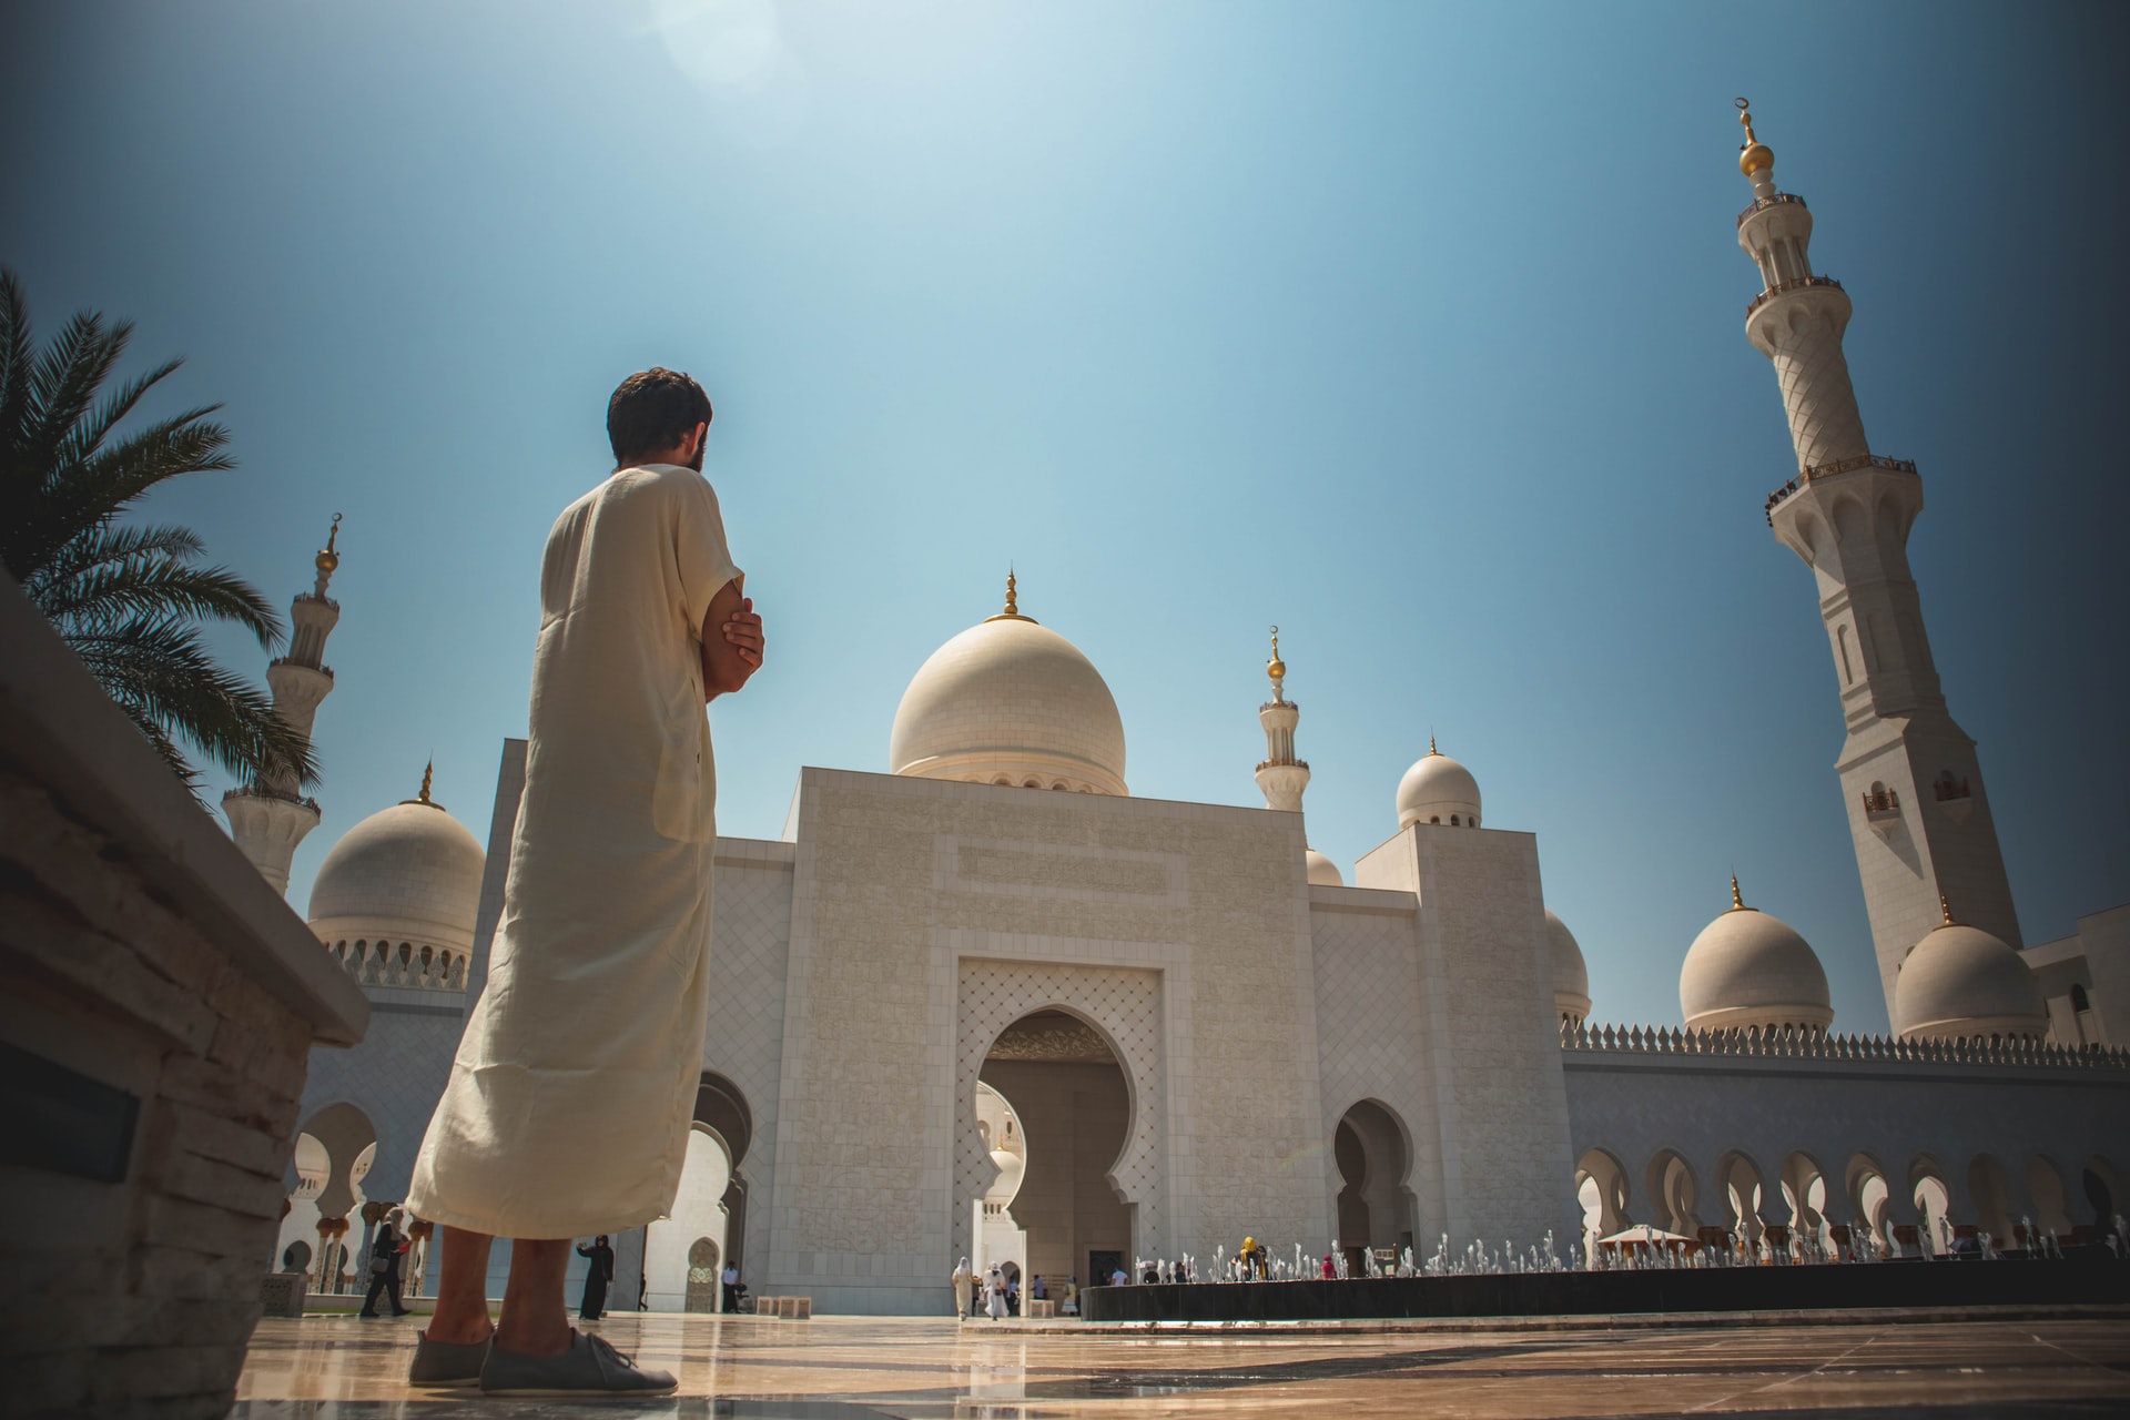
[[[0,577],[0,1407],[222,1416],[360,992]]]

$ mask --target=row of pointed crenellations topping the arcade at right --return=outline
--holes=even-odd
[[[1877,1060],[1889,1064],[2021,1064],[2066,1071],[2130,1071],[2130,1050],[2058,1045],[2026,1037],[1900,1041],[1821,1030],[1685,1030],[1678,1026],[1589,1026],[1561,1022],[1561,1050],[1638,1056],[1755,1056],[1770,1060]]]

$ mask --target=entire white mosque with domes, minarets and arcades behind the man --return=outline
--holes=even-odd
[[[735,1262],[824,1311],[944,1311],[961,1256],[1086,1282],[1244,1235],[1359,1260],[1442,1235],[1566,1252],[1627,1224],[1766,1254],[2115,1226],[2130,905],[2021,943],[1906,564],[1921,479],[1870,451],[1849,296],[1813,275],[1813,217],[1749,115],[1747,141],[1747,339],[1800,464],[1768,519],[1828,624],[1894,1039],[1834,1033],[1813,947],[1736,881],[1685,950],[1683,1026],[1591,1026],[1536,839],[1433,743],[1346,884],[1308,845],[1276,639],[1265,809],[1133,798],[1099,671],[1007,579],[1003,611],[912,677],[886,773],[803,769],[782,839],[718,839],[688,1171],[671,1220],[616,1239],[611,1305],[641,1286],[709,1309]],[[332,686],[337,564],[328,541],[271,671],[305,726]],[[522,781],[505,741],[486,854],[424,779],[317,873],[311,926],[373,1007],[358,1047],[311,1058],[281,1250],[320,1290],[351,1286],[405,1192],[481,992]],[[315,805],[251,786],[228,813],[285,888]]]

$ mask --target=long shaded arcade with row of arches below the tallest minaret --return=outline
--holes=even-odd
[[[1585,1241],[1915,1256],[2090,1241],[2130,1211],[2130,1052],[1570,1028],[1561,1062]]]

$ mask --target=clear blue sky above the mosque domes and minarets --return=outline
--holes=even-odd
[[[277,602],[345,511],[326,822],[486,837],[537,566],[645,364],[773,662],[720,828],[886,769],[927,654],[1022,607],[1135,794],[1255,805],[1284,628],[1310,837],[1406,764],[1538,832],[1595,1013],[1678,1020],[1747,901],[1883,1030],[1796,473],[1742,336],[1732,96],[1855,298],[1872,447],[2030,941],[2130,898],[2124,6],[9,4],[0,260],[187,356],[243,468],[153,509]],[[241,641],[228,651],[258,671]],[[222,783],[215,783],[219,792]]]

